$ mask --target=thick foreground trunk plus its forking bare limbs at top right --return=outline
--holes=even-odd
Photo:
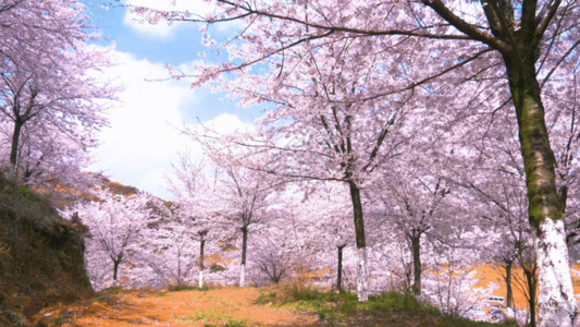
[[[516,108],[529,221],[536,243],[539,325],[576,326],[578,313],[562,221],[565,208],[556,189],[556,160],[545,124],[535,66],[544,33],[557,20],[562,1],[546,2],[539,10],[538,1],[514,5],[508,0],[481,0],[491,34],[455,15],[441,0],[422,2],[466,36],[488,45],[503,57]]]

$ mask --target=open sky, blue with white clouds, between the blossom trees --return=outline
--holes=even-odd
[[[206,11],[197,0],[127,0],[144,7],[180,9],[189,5]],[[103,40],[112,46],[115,63],[107,75],[122,87],[119,102],[109,111],[111,126],[100,133],[101,145],[92,152],[96,162],[89,168],[104,172],[114,181],[136,186],[165,199],[165,175],[177,154],[188,150],[200,155],[199,148],[180,130],[198,123],[213,125],[221,132],[245,129],[260,114],[258,108],[240,109],[224,94],[207,88],[190,88],[186,80],[166,80],[165,63],[187,68],[206,50],[200,43],[199,26],[182,23],[149,25],[139,22],[125,8],[106,7],[106,0],[86,0],[91,17]],[[223,33],[227,33],[225,27]],[[211,59],[211,57],[210,57]],[[150,82],[151,80],[166,80]]]

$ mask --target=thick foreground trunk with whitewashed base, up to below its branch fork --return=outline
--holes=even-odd
[[[545,125],[534,53],[504,55],[526,168],[528,214],[535,234],[540,326],[576,326],[577,308],[565,243],[564,208],[556,190],[555,158]]]

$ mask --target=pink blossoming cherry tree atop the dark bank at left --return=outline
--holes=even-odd
[[[83,4],[70,0],[2,5],[0,113],[11,124],[7,142],[12,178],[30,182],[32,167],[36,172],[47,170],[37,165],[39,157],[32,148],[42,153],[44,160],[61,159],[52,157],[57,155],[51,148],[54,142],[47,145],[47,137],[77,148],[69,156],[59,154],[65,157],[61,164],[81,164],[74,157],[83,157],[96,145],[95,132],[107,122],[102,113],[107,105],[101,99],[112,98],[114,89],[98,76],[99,69],[108,64],[106,51],[87,44],[95,36],[87,33],[90,26],[83,10]],[[64,180],[65,174],[46,171]]]

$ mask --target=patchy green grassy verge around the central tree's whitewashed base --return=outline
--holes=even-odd
[[[257,303],[316,314],[324,326],[515,326],[513,323],[490,324],[447,317],[411,294],[396,292],[371,295],[369,301],[359,303],[353,293],[325,293],[294,286],[272,287],[261,291]]]

